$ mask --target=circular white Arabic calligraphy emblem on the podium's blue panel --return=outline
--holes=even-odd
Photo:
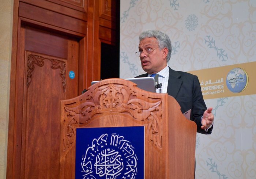
[[[83,179],[135,179],[138,158],[134,147],[116,133],[94,138],[82,157]]]

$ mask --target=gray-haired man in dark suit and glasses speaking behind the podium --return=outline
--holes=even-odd
[[[139,52],[135,54],[140,57],[142,68],[147,73],[137,77],[158,74],[162,93],[173,96],[180,104],[182,113],[191,110],[190,120],[196,122],[197,132],[211,134],[214,115],[212,107],[206,108],[197,76],[174,71],[167,65],[172,53],[168,35],[157,30],[144,31],[139,41]]]

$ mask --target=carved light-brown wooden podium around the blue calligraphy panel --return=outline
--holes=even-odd
[[[194,178],[196,123],[172,96],[123,79],[102,80],[61,101],[60,178],[75,178],[77,128],[124,126],[145,127],[145,179]]]

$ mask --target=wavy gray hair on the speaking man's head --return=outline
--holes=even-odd
[[[140,34],[139,41],[142,41],[144,38],[150,38],[150,37],[154,37],[157,39],[159,48],[161,50],[165,47],[168,49],[168,54],[167,54],[167,62],[168,62],[171,58],[171,53],[172,53],[172,42],[170,41],[169,36],[159,30],[148,30]]]

